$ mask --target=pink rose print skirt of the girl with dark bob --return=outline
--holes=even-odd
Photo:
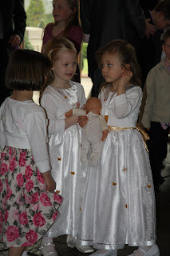
[[[31,150],[6,146],[0,169],[0,241],[4,246],[30,246],[57,217],[62,198],[45,190]]]

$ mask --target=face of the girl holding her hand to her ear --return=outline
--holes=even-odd
[[[102,75],[106,82],[117,82],[124,72],[118,54],[105,53],[101,57]]]

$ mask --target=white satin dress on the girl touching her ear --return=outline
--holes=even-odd
[[[123,96],[126,108],[122,105],[121,111],[124,109],[127,114],[128,109],[126,122],[129,126],[136,122],[140,95],[140,88],[133,86]],[[102,92],[100,97],[103,98]],[[111,126],[113,119],[120,122],[115,117],[114,111],[120,104],[115,97],[108,105],[107,100],[102,102],[102,114],[109,113]],[[135,111],[130,107],[134,102]],[[135,129],[109,130],[97,167],[88,166],[85,170],[77,243],[106,250],[121,249],[125,244],[154,245],[155,194],[148,153],[140,132]]]

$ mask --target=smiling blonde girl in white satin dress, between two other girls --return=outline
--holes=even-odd
[[[57,252],[53,247],[53,238],[62,234],[69,234],[69,247],[77,247],[73,244],[73,238],[77,234],[81,191],[85,180],[80,162],[81,127],[77,124],[77,116],[65,118],[65,113],[77,106],[85,107],[86,99],[83,86],[71,81],[77,69],[77,50],[73,43],[66,38],[52,38],[45,45],[45,54],[53,64],[52,81],[42,94],[41,105],[49,119],[52,175],[63,203],[59,211],[61,218],[43,238],[42,254],[54,256]],[[79,246],[77,249],[84,253],[93,252],[89,246]]]

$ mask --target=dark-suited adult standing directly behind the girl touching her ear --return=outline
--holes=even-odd
[[[83,32],[90,34],[87,50],[89,77],[93,82],[92,96],[97,97],[104,80],[97,67],[95,52],[117,38],[136,46],[144,36],[145,18],[139,0],[81,0],[80,12]]]

